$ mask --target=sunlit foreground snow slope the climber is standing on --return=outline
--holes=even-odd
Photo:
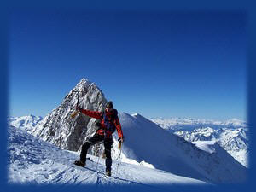
[[[74,166],[79,154],[57,148],[50,143],[33,137],[26,131],[9,126],[9,183],[33,184],[90,184],[115,187],[119,184],[140,186],[142,189],[155,188],[162,184],[203,184],[199,180],[181,177],[170,172],[121,162],[117,172],[117,161],[113,160],[113,177],[104,175],[105,163],[102,158],[88,155],[86,168]],[[61,185],[60,185],[61,186]]]

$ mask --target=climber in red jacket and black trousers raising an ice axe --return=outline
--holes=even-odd
[[[86,154],[90,146],[103,141],[106,154],[106,173],[108,176],[111,176],[111,147],[113,143],[112,134],[115,130],[117,130],[118,132],[119,142],[124,142],[124,135],[119,122],[118,112],[116,109],[113,108],[113,102],[107,103],[106,109],[103,113],[90,111],[83,108],[77,108],[77,110],[87,116],[90,116],[91,118],[100,119],[101,123],[96,124],[97,126],[99,126],[99,129],[96,131],[96,134],[93,137],[90,137],[90,139],[83,144],[80,154],[80,160],[76,160],[74,164],[84,167],[86,163]]]

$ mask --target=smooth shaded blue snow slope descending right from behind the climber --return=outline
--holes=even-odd
[[[212,144],[214,153],[209,153],[139,114],[120,113],[119,119],[125,135],[124,154],[130,159],[144,160],[157,169],[212,183],[246,180],[247,169],[218,143]]]

